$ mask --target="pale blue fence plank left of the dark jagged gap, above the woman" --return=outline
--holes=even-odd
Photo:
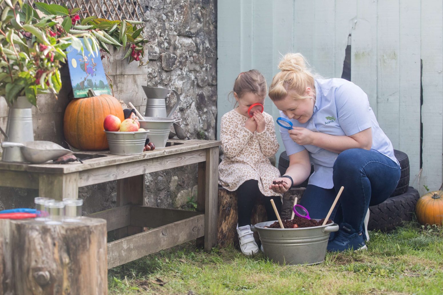
[[[334,78],[342,78],[345,50],[348,45],[349,34],[352,34],[357,20],[356,0],[335,0],[335,70]],[[352,44],[351,44],[352,47]]]

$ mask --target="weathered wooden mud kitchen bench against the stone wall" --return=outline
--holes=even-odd
[[[210,250],[217,242],[218,147],[220,141],[169,140],[141,155],[78,151],[83,164],[0,162],[0,186],[32,188],[40,197],[78,198],[78,187],[117,180],[117,207],[89,214],[103,218],[117,241],[108,243],[108,268],[197,239]],[[197,211],[144,205],[144,175],[198,163]],[[148,227],[148,231],[143,231]]]

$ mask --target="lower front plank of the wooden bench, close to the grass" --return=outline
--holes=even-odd
[[[200,214],[108,243],[108,268],[202,237],[204,220]]]

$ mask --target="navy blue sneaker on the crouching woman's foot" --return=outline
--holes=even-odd
[[[342,222],[334,240],[328,243],[329,252],[367,249],[363,235],[359,235],[349,224]]]

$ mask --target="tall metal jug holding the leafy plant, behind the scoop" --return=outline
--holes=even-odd
[[[34,140],[31,107],[32,104],[25,96],[17,97],[17,100],[9,109],[6,132],[2,131],[5,141],[24,142]],[[20,147],[5,147],[1,159],[6,162],[26,162]]]

